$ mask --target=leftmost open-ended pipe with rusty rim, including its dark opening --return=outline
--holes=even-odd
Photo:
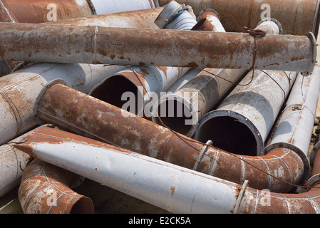
[[[128,107],[125,105],[133,101],[135,108],[128,110],[130,113],[151,118],[153,111],[150,108],[153,108],[153,105],[150,99],[158,98],[160,93],[170,88],[188,70],[188,68],[161,66],[126,68],[98,83],[89,95],[119,108],[133,108],[132,105]]]

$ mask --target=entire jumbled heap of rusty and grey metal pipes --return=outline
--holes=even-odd
[[[319,0],[0,1],[0,197],[320,213]]]

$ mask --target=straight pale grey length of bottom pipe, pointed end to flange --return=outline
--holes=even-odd
[[[228,213],[238,193],[215,177],[61,130],[41,128],[14,147],[173,213]],[[218,186],[230,202],[215,195]]]

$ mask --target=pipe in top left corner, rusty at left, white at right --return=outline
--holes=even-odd
[[[158,1],[98,0],[1,0],[0,21],[43,23],[158,7]]]

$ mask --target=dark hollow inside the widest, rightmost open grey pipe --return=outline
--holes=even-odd
[[[237,155],[257,155],[257,140],[252,131],[232,117],[222,116],[207,120],[198,129],[197,140],[212,140],[213,146]]]

